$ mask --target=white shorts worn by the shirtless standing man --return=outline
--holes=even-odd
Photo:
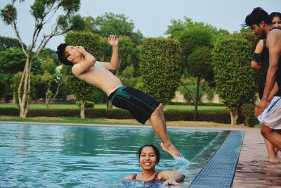
[[[281,129],[281,97],[274,96],[268,108],[259,115],[259,121],[271,129]]]

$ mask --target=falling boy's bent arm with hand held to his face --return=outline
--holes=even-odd
[[[75,76],[79,76],[96,63],[96,58],[87,52],[83,46],[75,46],[75,48],[84,56],[84,59],[81,62],[72,67],[72,73]]]

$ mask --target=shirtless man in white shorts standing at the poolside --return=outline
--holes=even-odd
[[[261,134],[277,149],[281,150],[281,97],[274,96],[281,89],[281,30],[273,27],[270,16],[257,7],[247,15],[244,26],[251,27],[254,35],[267,38],[269,67],[263,97],[255,107],[255,115],[263,123]],[[278,69],[278,67],[280,69]]]

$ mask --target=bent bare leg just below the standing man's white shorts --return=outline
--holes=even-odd
[[[261,134],[279,151],[281,150],[281,130],[273,130],[263,124],[261,126]]]

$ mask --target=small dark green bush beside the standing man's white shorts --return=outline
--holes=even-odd
[[[259,120],[254,116],[254,104],[243,104],[242,115],[244,116],[244,125],[254,127],[259,124]]]

